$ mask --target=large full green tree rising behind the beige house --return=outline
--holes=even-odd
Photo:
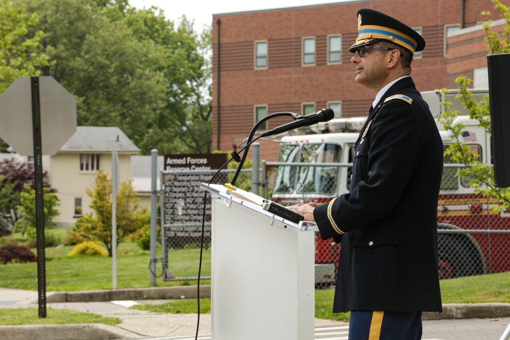
[[[136,10],[126,0],[18,3],[39,14],[33,30],[46,32],[40,45],[53,62],[45,74],[77,98],[79,125],[118,126],[143,154],[196,152],[180,131],[194,119],[193,87],[207,75],[185,19],[175,26],[157,8]]]

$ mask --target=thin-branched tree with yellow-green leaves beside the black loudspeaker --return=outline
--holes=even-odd
[[[489,54],[508,53],[510,51],[510,8],[501,4],[499,0],[493,0],[496,9],[506,21],[506,27],[500,33],[493,32],[491,28],[491,20],[483,23],[483,29],[486,32],[485,39],[489,45]],[[486,19],[491,15],[489,11],[482,12]],[[484,127],[489,135],[492,135],[489,96],[477,102],[473,99],[469,91],[471,80],[465,76],[458,77],[455,82],[459,85],[459,94],[456,96],[460,99],[464,107],[468,110],[471,119],[478,120],[479,126]],[[443,90],[445,92],[446,90]],[[468,178],[471,188],[475,188],[476,193],[494,198],[500,204],[494,206],[497,211],[507,210],[510,208],[510,189],[496,188],[494,184],[494,171],[488,164],[483,164],[479,160],[479,155],[472,153],[469,146],[462,143],[461,134],[465,130],[462,123],[454,123],[458,112],[451,110],[451,103],[442,103],[445,110],[441,114],[440,122],[443,123],[445,130],[448,130],[452,136],[452,143],[445,150],[445,155],[457,163],[463,164],[466,168],[459,169],[456,176]]]

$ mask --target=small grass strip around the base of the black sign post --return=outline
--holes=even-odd
[[[55,325],[55,324],[105,324],[116,325],[122,320],[107,318],[93,313],[82,313],[68,309],[46,310],[46,318],[39,318],[38,308],[0,308],[0,326]]]

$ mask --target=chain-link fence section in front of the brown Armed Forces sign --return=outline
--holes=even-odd
[[[200,278],[211,278],[211,195],[206,197],[206,191],[200,189],[200,184],[209,181],[211,184],[228,183],[235,170],[216,172],[162,172],[164,281],[197,280],[200,246],[203,246]],[[246,191],[251,190],[251,169],[241,170],[236,186]]]

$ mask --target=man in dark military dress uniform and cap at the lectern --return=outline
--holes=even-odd
[[[443,145],[410,76],[425,40],[384,13],[358,11],[355,82],[374,95],[355,144],[349,193],[293,208],[341,242],[333,311],[350,340],[421,339],[422,311],[442,311],[437,203]]]

